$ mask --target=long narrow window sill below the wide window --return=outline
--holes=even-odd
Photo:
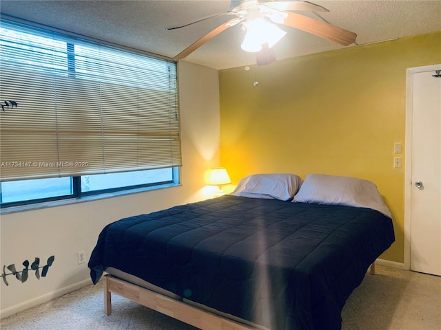
[[[10,208],[1,209],[0,214],[4,215],[4,214],[16,213],[16,212],[41,210],[43,208],[52,208],[55,206],[64,206],[64,205],[71,205],[71,204],[76,204],[76,203],[84,203],[86,201],[96,201],[99,199],[106,199],[106,198],[112,198],[112,197],[138,194],[139,192],[146,192],[146,191],[152,191],[152,190],[158,190],[158,189],[164,189],[164,188],[172,188],[172,187],[176,187],[176,186],[181,186],[181,184],[163,184],[161,186],[144,187],[144,188],[137,188],[137,189],[132,189],[132,190],[121,190],[121,191],[116,191],[116,192],[106,192],[106,193],[103,193],[100,195],[91,195],[91,196],[85,196],[85,197],[81,197],[81,198],[63,199],[60,201],[48,201],[45,203],[29,204],[29,205],[22,205],[22,206],[12,206]]]

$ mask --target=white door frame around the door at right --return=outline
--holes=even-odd
[[[406,131],[404,137],[404,270],[411,269],[412,114],[413,75],[441,70],[441,64],[411,67],[406,74]]]

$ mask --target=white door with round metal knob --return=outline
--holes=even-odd
[[[410,268],[441,276],[441,78],[413,74]]]

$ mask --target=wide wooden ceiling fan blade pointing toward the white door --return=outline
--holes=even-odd
[[[354,32],[294,12],[286,13],[288,16],[285,18],[284,24],[292,28],[321,36],[322,38],[340,43],[340,45],[344,46],[351,45],[351,43],[356,41],[357,34]]]

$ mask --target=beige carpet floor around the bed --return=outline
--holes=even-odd
[[[342,319],[342,330],[439,330],[441,277],[377,266],[376,275],[366,274],[349,296]],[[116,294],[112,295],[112,315],[105,316],[102,281],[3,318],[0,328],[197,330]]]

